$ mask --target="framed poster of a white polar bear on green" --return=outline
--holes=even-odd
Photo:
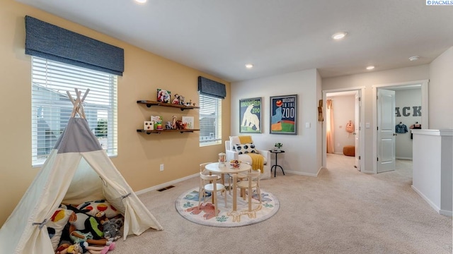
[[[239,99],[239,132],[261,133],[261,98]]]

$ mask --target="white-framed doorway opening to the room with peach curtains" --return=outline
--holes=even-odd
[[[330,153],[343,155],[343,147],[348,145],[354,152],[354,162],[350,165],[355,167],[358,171],[363,169],[363,151],[364,151],[364,109],[362,107],[362,95],[365,92],[365,87],[349,87],[336,90],[323,90],[323,167],[327,165],[327,151],[328,151],[328,138],[332,138],[333,147],[329,148]],[[333,121],[333,125],[328,126],[327,115],[327,98],[333,98],[331,101],[333,105],[334,114],[337,114],[337,121]],[[330,102],[329,102],[330,103]],[[343,107],[343,109],[342,109]],[[336,113],[335,113],[336,112]],[[338,116],[339,115],[339,116]],[[338,121],[339,119],[339,121]],[[353,123],[354,131],[346,131],[348,123]],[[352,161],[352,160],[349,160]]]

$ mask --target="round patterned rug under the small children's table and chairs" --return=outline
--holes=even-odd
[[[210,193],[207,193],[207,195],[210,195]],[[238,190],[237,210],[233,212],[232,196],[227,191],[226,207],[224,205],[224,196],[219,193],[217,194],[217,210],[219,210],[219,214],[216,217],[214,214],[214,205],[212,205],[212,198],[207,197],[206,202],[202,202],[202,205],[198,207],[198,197],[198,188],[186,191],[176,199],[176,210],[185,219],[190,220],[190,222],[207,226],[246,226],[263,222],[277,213],[280,207],[280,203],[272,193],[261,189],[261,205],[258,195],[253,194],[252,211],[248,212],[248,198],[243,200],[243,198],[239,197]]]

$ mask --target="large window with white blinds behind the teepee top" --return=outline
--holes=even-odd
[[[117,155],[117,75],[32,56],[32,164],[39,167],[67,126],[74,88],[82,94],[86,120],[109,156]]]

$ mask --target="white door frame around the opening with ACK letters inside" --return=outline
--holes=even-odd
[[[428,129],[428,85],[430,80],[415,80],[403,83],[389,83],[381,85],[372,85],[373,92],[373,174],[377,174],[377,89],[378,88],[391,88],[391,87],[402,87],[411,85],[421,85],[422,90],[422,128]]]

